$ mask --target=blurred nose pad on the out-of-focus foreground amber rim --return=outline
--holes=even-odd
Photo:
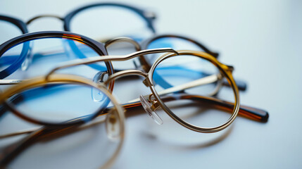
[[[106,132],[108,139],[112,141],[120,138],[120,123],[115,108],[106,115]]]

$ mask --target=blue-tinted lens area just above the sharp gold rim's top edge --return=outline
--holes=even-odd
[[[193,50],[193,51],[203,51],[201,47],[193,42],[182,39],[180,37],[161,37],[158,39],[153,40],[147,46],[147,49],[157,49],[157,48],[172,48],[175,51],[177,50]],[[151,54],[147,55],[146,58],[148,59],[149,63],[154,63],[156,58],[161,56],[161,54]]]

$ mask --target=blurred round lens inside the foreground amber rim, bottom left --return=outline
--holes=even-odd
[[[45,84],[11,96],[8,104],[28,118],[48,123],[76,119],[89,122],[46,134],[9,167],[100,168],[111,165],[122,146],[124,118],[120,116],[122,111],[117,111],[118,105],[103,90],[99,89],[99,92],[103,92],[104,99],[94,101],[91,88],[63,82]],[[106,114],[92,120],[96,113]]]

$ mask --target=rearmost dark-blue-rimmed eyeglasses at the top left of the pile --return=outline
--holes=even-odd
[[[110,22],[108,22],[108,17],[111,18]],[[29,32],[27,25],[32,24],[34,20],[39,18],[56,18],[63,21],[63,30],[77,32],[95,39],[99,39],[99,37],[101,39],[119,37],[121,35],[120,30],[115,30],[113,27],[122,25],[123,36],[128,34],[133,38],[136,36],[136,38],[141,39],[142,34],[146,35],[148,32],[153,34],[155,32],[153,20],[156,15],[151,11],[120,3],[97,3],[82,6],[71,11],[63,18],[57,15],[38,15],[26,23],[17,18],[0,15],[0,27],[6,32],[1,36],[0,43]],[[87,27],[83,27],[83,25],[87,25]],[[103,25],[106,25],[106,27],[103,27]],[[145,27],[147,27],[147,31]],[[103,32],[106,32],[106,34]],[[108,35],[111,37],[108,37]]]

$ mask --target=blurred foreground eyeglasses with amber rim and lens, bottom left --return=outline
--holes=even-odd
[[[92,100],[89,93],[91,88],[103,95],[102,101],[96,102]],[[20,97],[22,97],[22,100],[20,100]],[[19,98],[19,102],[14,104],[14,101],[8,98]],[[1,168],[8,166],[18,154],[35,142],[39,142],[45,137],[46,139],[52,138],[54,135],[58,137],[57,135],[60,136],[62,132],[63,134],[68,134],[69,140],[70,138],[73,139],[68,144],[70,147],[68,148],[64,145],[64,149],[60,149],[59,145],[62,143],[56,141],[54,143],[55,146],[52,146],[52,154],[55,152],[58,154],[69,154],[69,158],[73,158],[73,160],[80,158],[80,161],[82,161],[83,157],[81,158],[81,156],[84,155],[84,158],[87,158],[88,155],[83,154],[82,149],[80,154],[75,154],[76,151],[74,149],[82,147],[84,142],[92,144],[92,139],[86,136],[87,139],[81,140],[81,137],[73,136],[75,134],[70,136],[70,132],[74,133],[77,130],[83,130],[85,127],[92,127],[96,124],[98,124],[98,130],[94,129],[97,132],[95,135],[101,137],[101,139],[97,140],[99,144],[93,149],[102,152],[101,158],[98,160],[99,165],[106,167],[112,165],[122,147],[125,132],[123,109],[107,89],[91,80],[74,75],[54,75],[47,80],[45,77],[36,77],[6,90],[6,92],[1,94],[0,100],[1,104],[15,115],[21,116],[32,123],[44,125],[44,127],[22,139],[22,142],[1,151]],[[37,115],[42,118],[41,121],[38,121],[37,118],[32,118],[32,116],[37,117]],[[99,117],[96,122],[89,123],[97,116]],[[45,118],[49,123],[45,122]],[[70,151],[70,149],[73,149],[73,151]],[[87,146],[85,146],[85,149],[87,149]],[[91,153],[93,152],[89,152],[89,154]],[[39,158],[42,157],[38,156],[36,160]],[[88,163],[86,165],[89,165],[89,161],[87,160]],[[54,162],[52,161],[51,166],[55,166],[56,163]],[[26,163],[30,162],[27,161]],[[75,162],[73,164],[76,165],[78,163]],[[73,164],[68,164],[68,166],[73,166]],[[14,165],[18,166],[18,163]],[[23,167],[26,165],[23,165]],[[35,164],[34,167],[37,167],[37,165]]]

